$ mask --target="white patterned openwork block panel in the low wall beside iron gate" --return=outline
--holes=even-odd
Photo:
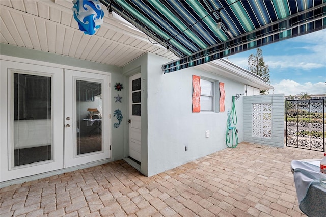
[[[252,105],[252,136],[271,138],[271,103]]]

